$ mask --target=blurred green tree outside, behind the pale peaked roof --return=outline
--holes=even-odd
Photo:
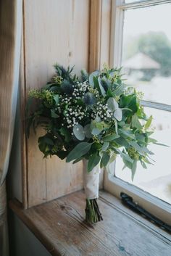
[[[149,32],[125,40],[123,59],[129,59],[138,52],[148,55],[159,63],[158,75],[171,75],[171,42],[162,32]]]

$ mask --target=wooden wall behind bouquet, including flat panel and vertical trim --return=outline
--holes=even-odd
[[[46,84],[54,74],[55,62],[75,65],[75,70],[90,67],[93,52],[99,54],[97,68],[109,62],[110,0],[24,0],[21,51],[21,110],[25,107],[30,88]],[[94,6],[95,4],[95,6]],[[99,10],[99,22],[94,9]],[[96,29],[99,33],[93,38]],[[91,31],[91,33],[90,33]],[[100,42],[91,51],[92,40]],[[22,111],[23,112],[23,111]],[[22,116],[22,191],[24,207],[31,207],[83,188],[82,164],[67,164],[52,157],[43,160],[37,135],[25,139]]]

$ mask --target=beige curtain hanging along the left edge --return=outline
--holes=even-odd
[[[22,0],[0,0],[0,256],[8,256],[6,176],[20,66]]]

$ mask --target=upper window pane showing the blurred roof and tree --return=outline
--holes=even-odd
[[[171,104],[171,4],[125,11],[122,66],[144,99]]]

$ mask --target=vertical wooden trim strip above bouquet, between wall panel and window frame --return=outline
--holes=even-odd
[[[112,0],[91,0],[89,71],[109,64]]]

